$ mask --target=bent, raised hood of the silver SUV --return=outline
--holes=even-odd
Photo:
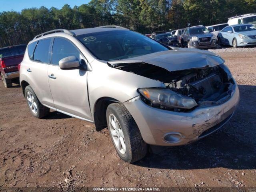
[[[109,64],[148,63],[168,71],[213,67],[225,61],[216,54],[204,50],[175,48],[129,59],[109,61]]]

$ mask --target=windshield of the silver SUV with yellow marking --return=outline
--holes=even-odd
[[[155,40],[129,30],[96,32],[77,36],[98,59],[110,61],[169,50]]]

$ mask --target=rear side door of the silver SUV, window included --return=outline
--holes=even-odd
[[[54,107],[50,92],[47,70],[50,62],[51,38],[39,40],[28,45],[29,61],[22,62],[26,68],[28,83],[36,93],[39,101],[50,107]]]

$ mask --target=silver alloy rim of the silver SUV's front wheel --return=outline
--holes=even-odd
[[[110,126],[110,134],[113,138],[116,148],[119,150],[121,154],[125,154],[126,145],[124,140],[124,133],[118,120],[116,119],[116,116],[110,114],[108,121]]]

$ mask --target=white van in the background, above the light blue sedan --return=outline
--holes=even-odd
[[[256,25],[256,14],[249,13],[249,14],[228,18],[228,25],[236,25],[236,24]]]

